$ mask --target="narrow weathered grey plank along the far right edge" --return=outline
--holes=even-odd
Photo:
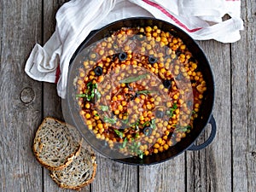
[[[256,2],[242,1],[245,30],[232,50],[233,189],[256,189]]]

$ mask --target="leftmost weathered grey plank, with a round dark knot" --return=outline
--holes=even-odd
[[[32,139],[42,118],[42,84],[24,72],[42,38],[41,1],[1,1],[0,7],[0,191],[41,191]]]

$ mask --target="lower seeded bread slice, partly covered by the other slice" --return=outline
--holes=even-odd
[[[83,146],[71,164],[61,171],[49,172],[49,176],[61,188],[80,190],[94,180],[96,166],[96,155]]]

